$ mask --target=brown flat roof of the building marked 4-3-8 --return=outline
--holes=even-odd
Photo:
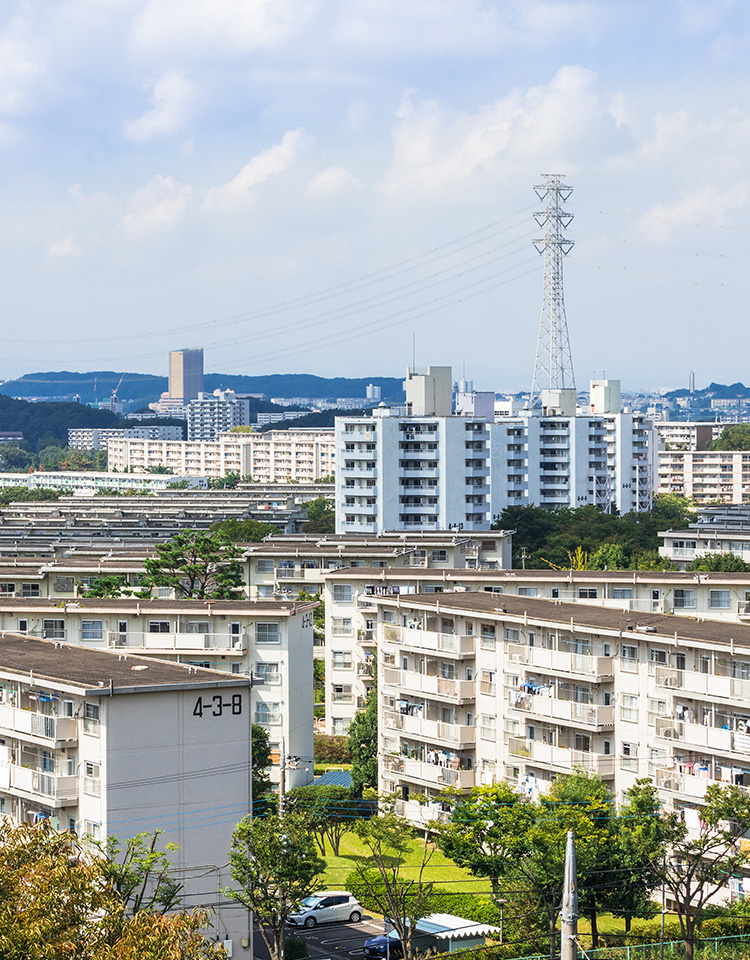
[[[79,687],[84,695],[146,692],[149,688],[247,686],[249,677],[187,664],[92,650],[54,640],[0,633],[0,676],[44,687]]]

